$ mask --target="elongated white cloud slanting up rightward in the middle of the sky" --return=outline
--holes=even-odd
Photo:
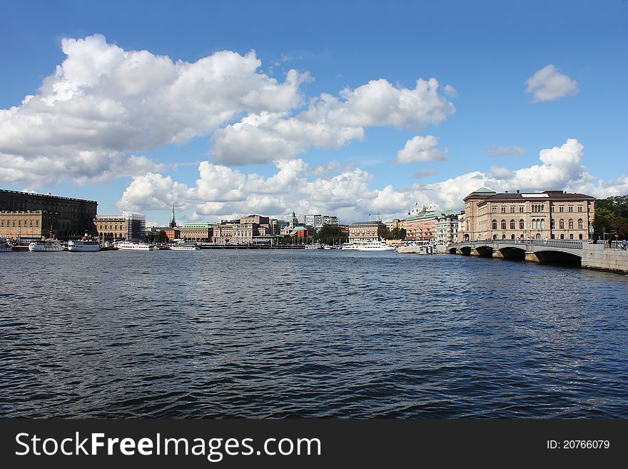
[[[341,148],[362,140],[369,126],[421,130],[455,112],[442,88],[433,78],[418,79],[414,89],[380,79],[343,89],[340,96],[321,94],[295,116],[248,114],[213,134],[211,153],[221,164],[263,163],[295,158],[312,147]]]

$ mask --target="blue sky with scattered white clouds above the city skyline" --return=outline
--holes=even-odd
[[[0,0],[0,188],[167,223],[628,194],[627,1]]]

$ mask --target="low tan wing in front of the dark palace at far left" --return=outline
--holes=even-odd
[[[44,210],[0,211],[0,238],[24,241],[51,238],[56,217],[56,212]]]

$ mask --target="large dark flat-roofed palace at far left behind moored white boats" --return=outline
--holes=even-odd
[[[5,221],[4,233],[8,238],[19,238],[23,224],[16,223],[16,231],[13,228],[13,221],[22,223],[26,221],[26,228],[30,228],[31,219],[33,223],[39,220],[41,232],[40,236],[71,238],[83,236],[86,232],[93,231],[92,220],[96,216],[98,202],[87,201],[81,198],[69,198],[53,196],[51,194],[39,194],[21,191],[6,191],[0,189],[0,212],[3,213]],[[34,212],[41,214],[35,216]],[[44,226],[41,226],[44,223]],[[36,228],[34,226],[34,228]],[[32,231],[32,237],[38,237]]]

